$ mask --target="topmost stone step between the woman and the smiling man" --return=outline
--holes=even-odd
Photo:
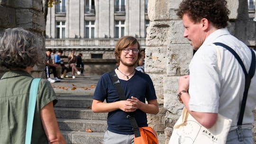
[[[92,96],[58,96],[58,102],[54,107],[67,108],[89,108],[92,103]]]

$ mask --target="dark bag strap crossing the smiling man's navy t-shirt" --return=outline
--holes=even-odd
[[[120,100],[126,100],[126,96],[124,94],[124,91],[122,90],[120,81],[118,79],[118,76],[117,76],[115,70],[112,71],[112,72],[109,72],[109,73],[110,73],[110,78],[113,82],[113,85],[115,86],[115,88],[118,91]],[[126,117],[128,118],[128,120],[129,120],[129,122],[132,126],[132,131],[133,131],[135,137],[139,137],[140,136],[139,127],[137,125],[137,121],[136,121],[134,115],[132,113],[126,113],[126,115],[127,115]]]

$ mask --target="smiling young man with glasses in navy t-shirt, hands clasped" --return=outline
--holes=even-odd
[[[146,73],[135,70],[141,57],[136,38],[124,36],[115,47],[117,74],[127,100],[120,100],[110,73],[104,73],[94,92],[93,112],[108,112],[108,129],[103,144],[133,144],[133,132],[126,112],[134,112],[139,127],[147,126],[146,113],[157,114],[158,104],[153,82]],[[107,103],[103,103],[106,99]],[[146,101],[147,100],[147,103]]]

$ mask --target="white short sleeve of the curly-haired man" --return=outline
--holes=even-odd
[[[190,110],[218,113],[220,80],[216,49],[211,45],[200,48],[189,68]]]

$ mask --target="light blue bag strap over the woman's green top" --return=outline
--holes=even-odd
[[[25,144],[31,144],[32,127],[33,127],[33,120],[34,120],[34,114],[35,114],[35,108],[36,108],[36,102],[37,102],[37,90],[38,90],[38,85],[40,80],[41,79],[39,78],[33,79],[30,86]]]

